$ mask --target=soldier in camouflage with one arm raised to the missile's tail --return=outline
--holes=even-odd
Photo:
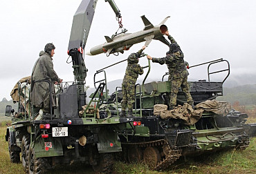
[[[185,98],[187,99],[188,104],[193,106],[194,102],[190,95],[190,86],[188,84],[188,71],[185,69],[184,55],[181,51],[180,46],[174,40],[174,38],[169,35],[169,32],[166,31],[168,39],[170,39],[170,50],[166,52],[166,57],[163,58],[152,58],[147,55],[147,59],[152,60],[158,64],[167,64],[169,70],[168,81],[172,82],[171,93],[170,93],[170,105],[169,109],[172,110],[176,106],[177,94],[179,87],[183,90]]]

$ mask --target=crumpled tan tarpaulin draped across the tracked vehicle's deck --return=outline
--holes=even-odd
[[[154,105],[154,115],[160,115],[162,119],[182,119],[185,124],[193,125],[199,121],[204,112],[226,116],[231,109],[231,105],[225,101],[207,100],[197,104],[195,108],[194,110],[192,106],[185,103],[183,106],[179,105],[172,110],[167,110],[165,104],[156,104]]]

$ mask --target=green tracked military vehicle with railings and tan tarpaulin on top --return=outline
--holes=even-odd
[[[141,121],[131,126],[128,138],[120,138],[123,159],[144,161],[151,168],[163,170],[181,156],[248,147],[250,137],[256,136],[256,124],[246,124],[248,115],[232,109],[227,102],[215,100],[223,95],[223,83],[230,75],[229,62],[221,58],[203,64],[208,64],[208,81],[189,81],[194,108],[185,104],[180,89],[176,108],[167,110],[171,81],[164,80],[166,73],[161,81],[145,83],[149,61],[143,84],[136,85],[134,115]],[[211,71],[212,65],[218,64],[226,68]],[[223,75],[223,81],[210,81],[210,76],[217,73]],[[109,101],[118,106],[121,100],[121,90],[116,90]]]

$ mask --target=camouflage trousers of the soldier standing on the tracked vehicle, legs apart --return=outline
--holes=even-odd
[[[169,76],[169,81],[172,81],[171,93],[170,93],[170,109],[173,109],[177,104],[177,95],[179,92],[179,87],[183,91],[188,104],[193,105],[193,99],[190,95],[190,86],[188,84],[188,73],[183,71],[179,75]]]

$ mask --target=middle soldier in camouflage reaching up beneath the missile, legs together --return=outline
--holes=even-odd
[[[127,68],[125,71],[125,77],[122,80],[122,101],[121,106],[122,110],[120,113],[120,117],[125,117],[125,110],[128,108],[127,117],[132,117],[132,108],[134,106],[134,95],[135,95],[135,84],[138,79],[138,75],[143,74],[143,68],[138,64],[138,57],[142,54],[143,50],[145,50],[146,46],[143,46],[141,50],[136,53],[131,53],[129,55],[127,61]]]

